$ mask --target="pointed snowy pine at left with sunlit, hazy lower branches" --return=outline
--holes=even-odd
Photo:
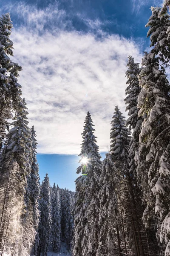
[[[30,173],[30,152],[31,148],[29,145],[31,145],[31,133],[28,128],[28,118],[26,111],[26,103],[25,100],[23,102],[20,102],[20,108],[16,113],[15,119],[16,121],[12,122],[11,125],[13,125],[13,128],[8,132],[7,134],[7,142],[6,146],[3,149],[1,160],[0,160],[0,186],[1,189],[6,191],[5,192],[5,198],[8,197],[8,181],[11,180],[11,170],[14,170],[14,165],[17,169],[19,169],[19,172],[17,173],[17,177],[14,176],[14,179],[18,179],[20,182],[17,184],[18,186],[15,188],[17,191],[14,191],[14,195],[17,194],[17,198],[20,199],[19,205],[23,207],[23,209],[20,209],[20,243],[18,243],[17,248],[15,247],[13,250],[19,250],[20,253],[25,253],[25,255],[28,254],[28,247],[23,247],[23,226],[24,221],[21,221],[21,218],[23,218],[24,211],[25,211],[25,199],[24,195],[26,193],[27,188],[27,176]],[[32,158],[31,158],[32,160]],[[4,201],[2,201],[2,208],[5,209],[8,207],[6,205],[6,200],[4,198]],[[8,230],[8,226],[5,229],[5,222],[6,219],[9,221],[9,218],[11,218],[11,215],[6,216],[6,213],[2,211],[1,215],[1,226],[0,226],[0,249],[2,248],[3,243],[3,237],[4,233],[6,233]],[[16,246],[16,244],[14,244]]]

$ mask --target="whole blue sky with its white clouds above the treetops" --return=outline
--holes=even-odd
[[[30,126],[38,140],[41,179],[74,190],[81,133],[91,112],[100,151],[110,145],[115,105],[125,113],[127,56],[141,62],[144,27],[162,0],[1,0],[10,12],[14,60]]]

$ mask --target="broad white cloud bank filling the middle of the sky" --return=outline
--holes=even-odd
[[[127,55],[141,59],[133,41],[64,31],[40,36],[26,29],[14,30],[12,40],[38,152],[78,154],[87,111],[99,149],[107,151],[114,105],[125,112]]]

